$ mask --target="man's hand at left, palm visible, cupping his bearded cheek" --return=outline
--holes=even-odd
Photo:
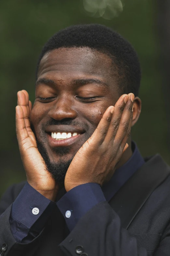
[[[59,185],[51,177],[37,149],[35,135],[30,127],[32,104],[29,95],[25,90],[22,90],[18,92],[17,96],[16,133],[27,181],[40,194],[55,201]]]

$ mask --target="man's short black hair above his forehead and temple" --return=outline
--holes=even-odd
[[[110,56],[119,78],[121,94],[138,95],[141,68],[137,54],[132,45],[119,33],[99,24],[69,26],[54,34],[44,45],[37,63],[45,53],[58,48],[89,47]]]

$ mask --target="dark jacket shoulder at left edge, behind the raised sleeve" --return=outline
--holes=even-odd
[[[0,199],[0,215],[15,201],[25,183],[26,181],[22,181],[7,188]]]

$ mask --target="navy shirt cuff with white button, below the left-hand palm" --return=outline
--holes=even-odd
[[[28,243],[43,230],[56,203],[26,182],[14,201],[10,214],[11,232],[17,242]]]

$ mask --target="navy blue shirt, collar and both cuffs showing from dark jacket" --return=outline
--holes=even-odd
[[[9,219],[11,232],[16,241],[31,242],[44,228],[56,204],[65,218],[68,229],[73,230],[84,214],[96,204],[109,201],[145,163],[134,142],[132,142],[132,148],[134,148],[132,157],[115,171],[109,182],[102,188],[97,183],[82,184],[65,193],[59,201],[53,202],[26,182],[12,205]]]

